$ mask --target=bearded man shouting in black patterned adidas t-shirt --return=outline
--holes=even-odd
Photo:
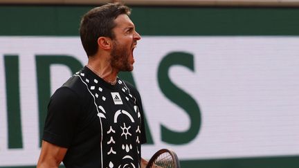
[[[141,97],[120,71],[132,71],[141,36],[119,3],[84,15],[80,37],[88,64],[51,97],[37,167],[145,167]]]

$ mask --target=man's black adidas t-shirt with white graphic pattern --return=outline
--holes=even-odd
[[[51,97],[43,140],[68,148],[66,167],[138,168],[146,142],[141,97],[85,66]]]

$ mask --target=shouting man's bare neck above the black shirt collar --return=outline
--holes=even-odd
[[[89,62],[87,67],[93,71],[93,73],[96,73],[96,75],[102,78],[102,80],[105,80],[105,82],[112,85],[116,84],[118,73],[111,67],[110,64],[100,65]]]

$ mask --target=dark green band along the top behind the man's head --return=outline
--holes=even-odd
[[[0,35],[78,36],[92,6],[0,6]],[[141,35],[299,35],[299,8],[132,7]]]

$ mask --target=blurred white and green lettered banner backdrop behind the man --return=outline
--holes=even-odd
[[[96,0],[0,0],[0,167],[35,167],[48,100],[85,64]],[[299,167],[299,1],[128,0],[147,144],[181,167]],[[63,167],[63,166],[62,166]]]

